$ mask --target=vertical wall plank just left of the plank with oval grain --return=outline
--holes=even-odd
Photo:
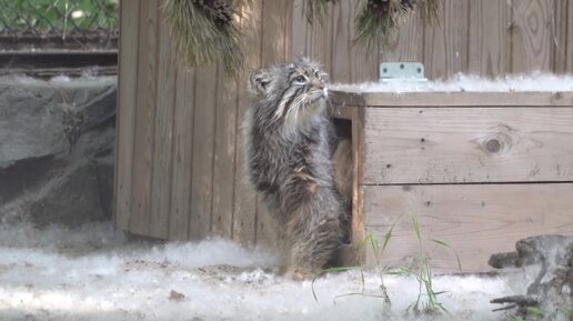
[[[506,0],[470,1],[470,73],[494,78],[510,71],[510,17]]]

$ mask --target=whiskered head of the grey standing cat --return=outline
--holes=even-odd
[[[304,124],[324,111],[328,99],[325,77],[319,63],[301,59],[253,72],[249,89],[259,108],[268,109],[273,122]]]

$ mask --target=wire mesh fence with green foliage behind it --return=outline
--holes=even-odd
[[[0,0],[0,42],[113,47],[118,30],[119,0]]]

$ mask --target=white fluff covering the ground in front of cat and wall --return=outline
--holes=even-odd
[[[361,289],[356,271],[314,283],[269,272],[273,255],[213,239],[200,243],[128,242],[111,223],[69,230],[0,224],[0,320],[410,320],[414,279],[385,277],[392,308]],[[521,274],[521,273],[520,273]],[[509,278],[436,277],[451,311],[428,320],[500,320],[489,301],[524,291]],[[379,294],[375,273],[365,293]]]

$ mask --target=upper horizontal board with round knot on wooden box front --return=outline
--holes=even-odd
[[[364,182],[573,181],[572,108],[368,108]]]

